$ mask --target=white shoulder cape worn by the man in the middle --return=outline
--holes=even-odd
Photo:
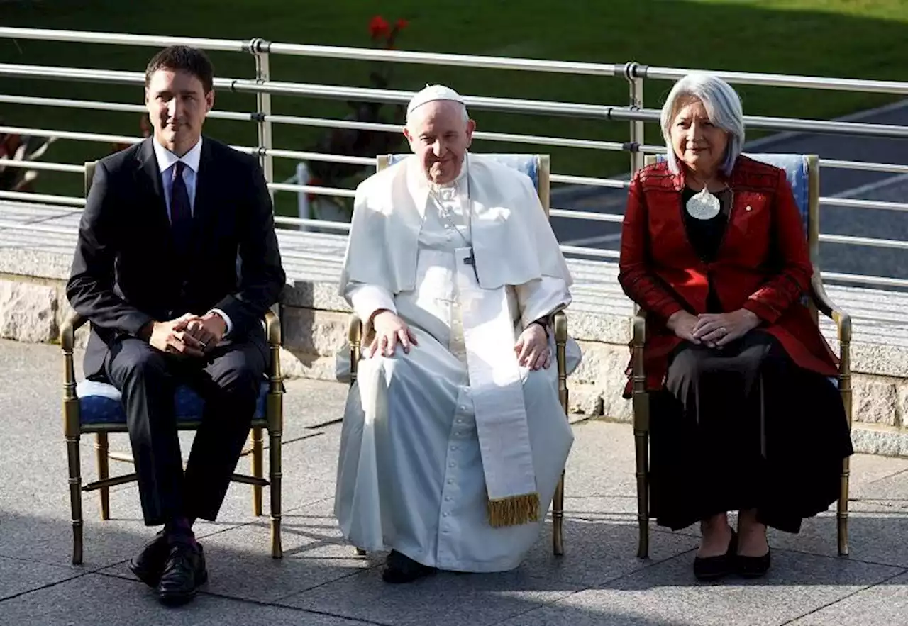
[[[480,154],[468,155],[472,241],[482,289],[550,277],[572,284],[558,240],[526,174]],[[351,282],[388,289],[416,287],[419,231],[429,186],[415,156],[360,183],[341,272]]]

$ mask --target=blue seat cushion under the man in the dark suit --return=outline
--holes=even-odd
[[[268,382],[262,382],[254,419],[262,419],[265,416],[268,388]],[[75,395],[79,397],[79,421],[83,425],[126,424],[126,412],[120,402],[120,391],[115,386],[94,380],[83,380],[75,386]],[[189,386],[177,387],[173,403],[178,421],[190,422],[202,417],[204,401]]]

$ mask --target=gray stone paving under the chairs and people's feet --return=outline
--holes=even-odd
[[[234,484],[217,523],[198,527],[211,580],[195,602],[166,610],[125,568],[150,535],[134,484],[114,488],[109,522],[96,494],[85,495],[85,562],[70,564],[60,366],[59,347],[0,340],[4,626],[893,626],[908,615],[908,460],[854,457],[850,558],[835,556],[827,513],[799,536],[771,533],[764,580],[702,584],[691,572],[694,528],[654,527],[651,559],[637,559],[630,427],[583,420],[568,460],[563,557],[550,553],[547,524],[513,572],[390,587],[383,555],[357,558],[331,515],[341,426],[324,424],[341,416],[345,387],[307,379],[285,396],[284,558],[268,555],[267,518],[252,516],[250,488]],[[112,448],[128,451],[125,437],[113,435]],[[91,480],[89,438],[82,452]]]

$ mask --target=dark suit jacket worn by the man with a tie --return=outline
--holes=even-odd
[[[152,320],[211,308],[231,318],[228,338],[248,338],[264,350],[262,316],[284,285],[271,197],[258,162],[204,138],[192,245],[188,258],[179,259],[152,141],[105,157],[94,171],[66,285],[73,308],[92,326],[86,377],[103,373],[118,337],[134,336]]]

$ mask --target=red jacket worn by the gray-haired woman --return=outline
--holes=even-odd
[[[673,174],[659,162],[637,171],[630,183],[618,281],[646,310],[647,388],[662,385],[668,355],[681,342],[666,320],[682,309],[706,313],[710,279],[725,312],[753,311],[763,322],[760,328],[778,339],[798,366],[835,376],[838,359],[800,303],[814,268],[785,171],[742,155],[727,182],[734,200],[711,263],[701,260],[687,239],[683,173]]]

